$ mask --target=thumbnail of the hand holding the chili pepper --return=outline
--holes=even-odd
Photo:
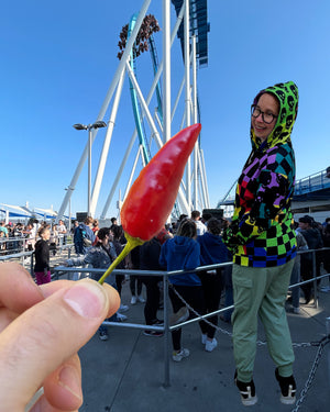
[[[99,318],[103,313],[108,296],[101,285],[85,279],[76,282],[63,299],[80,316]]]

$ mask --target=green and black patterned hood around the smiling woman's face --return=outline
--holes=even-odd
[[[253,104],[256,104],[263,93],[275,96],[279,103],[279,112],[276,124],[267,137],[265,148],[274,147],[278,143],[290,142],[290,134],[298,113],[298,88],[293,81],[277,83],[261,90],[254,98]],[[251,126],[252,147],[257,149],[261,146],[261,140],[254,134]]]

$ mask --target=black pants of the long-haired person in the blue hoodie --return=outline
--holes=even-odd
[[[202,292],[201,286],[180,286],[180,285],[174,285],[174,288],[178,291],[178,293],[185,299],[187,303],[191,308],[194,308],[198,313],[205,314],[205,298]],[[169,299],[173,307],[173,312],[177,312],[180,308],[183,308],[185,304],[183,301],[175,294],[172,287],[169,288]],[[190,313],[191,318],[196,318],[194,313]],[[207,333],[207,323],[204,321],[199,322],[199,327],[201,330],[201,333]],[[179,352],[182,349],[182,329],[177,329],[172,332],[172,343],[173,343],[173,349],[175,352]]]

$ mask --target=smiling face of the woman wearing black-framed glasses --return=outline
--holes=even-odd
[[[268,93],[264,93],[260,97],[256,107],[265,113],[273,113],[276,116],[278,115],[279,104],[278,100]],[[261,138],[264,142],[268,135],[272,133],[277,119],[275,118],[271,124],[267,124],[263,121],[262,113],[257,118],[251,116],[251,124],[254,130],[256,137]]]

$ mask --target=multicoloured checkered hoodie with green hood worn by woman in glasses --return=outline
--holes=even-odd
[[[290,211],[295,185],[295,154],[290,134],[298,111],[298,88],[293,81],[262,90],[279,103],[276,124],[262,142],[251,126],[252,152],[239,178],[232,224],[223,242],[241,266],[280,266],[296,256]]]

